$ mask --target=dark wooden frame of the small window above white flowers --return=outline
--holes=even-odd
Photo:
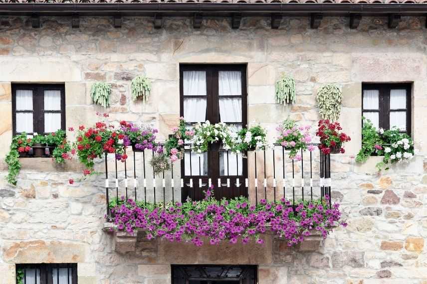
[[[406,108],[390,109],[390,90],[406,89]],[[363,106],[363,92],[365,90],[379,90],[379,109],[365,110]],[[379,113],[379,127],[384,130],[390,129],[390,112],[406,111],[406,131],[411,136],[411,120],[412,120],[412,83],[363,83],[362,84],[362,115],[364,112]]]

